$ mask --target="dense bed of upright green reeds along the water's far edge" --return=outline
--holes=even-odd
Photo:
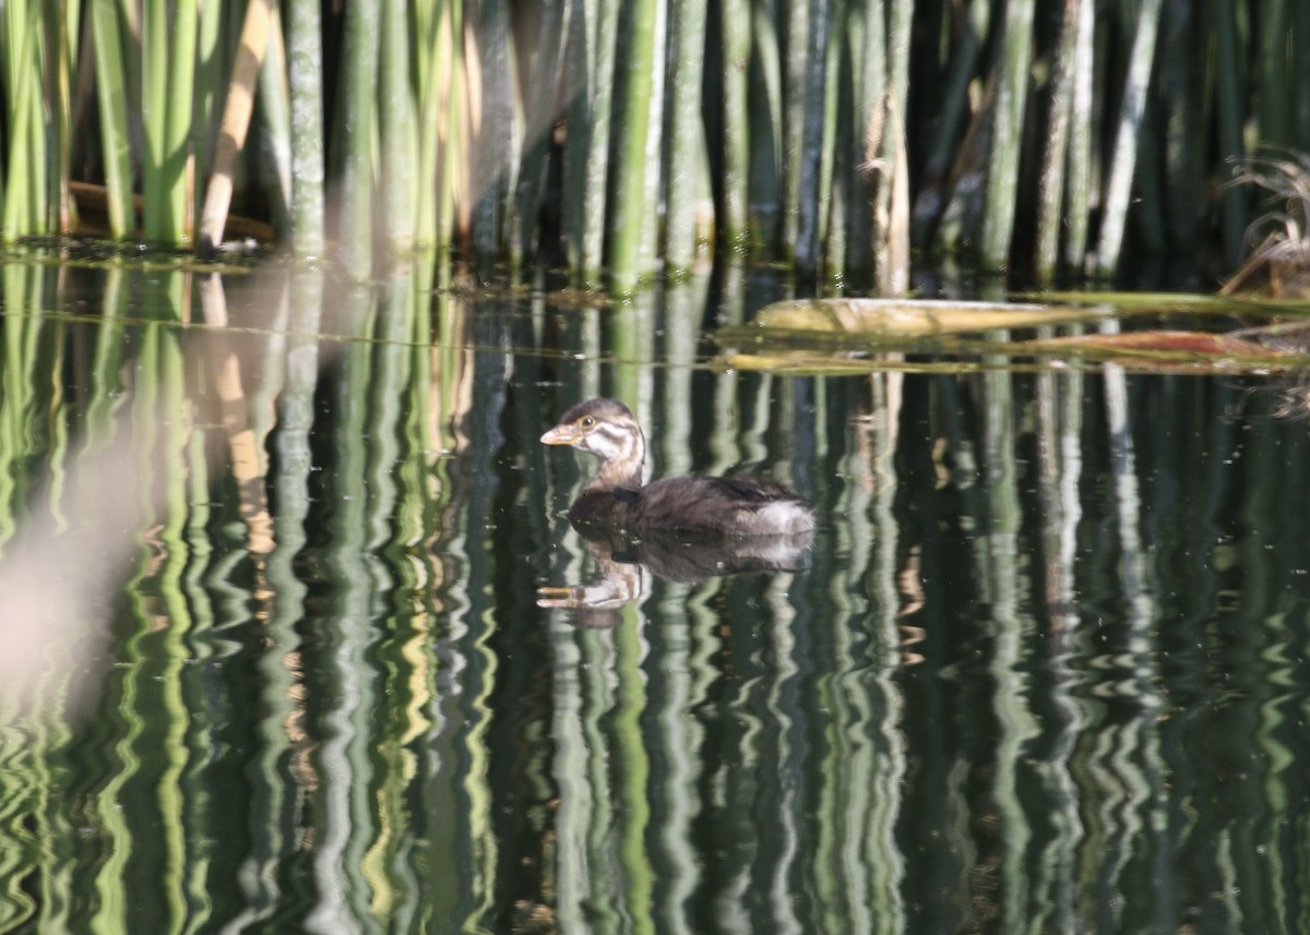
[[[1310,149],[1301,7],[10,0],[0,236],[206,251],[234,213],[360,279],[431,250],[621,293],[715,250],[883,293],[1213,280],[1277,207],[1237,166]]]

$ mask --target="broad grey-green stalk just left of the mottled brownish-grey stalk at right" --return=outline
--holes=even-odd
[[[996,128],[988,161],[988,185],[982,210],[981,263],[1001,271],[1010,254],[1014,207],[1019,194],[1019,153],[1023,141],[1023,109],[1028,93],[1028,47],[1032,39],[1032,0],[1006,4],[1005,37],[1001,43],[1001,80],[997,86]]]

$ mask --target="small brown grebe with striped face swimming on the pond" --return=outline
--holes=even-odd
[[[626,533],[675,532],[700,537],[808,537],[814,509],[799,494],[751,477],[688,474],[642,485],[646,436],[618,399],[590,399],[571,407],[541,436],[546,445],[569,445],[600,458],[595,477],[569,508],[579,528]]]

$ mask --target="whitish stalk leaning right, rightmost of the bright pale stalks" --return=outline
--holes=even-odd
[[[1124,85],[1124,103],[1115,135],[1115,149],[1106,183],[1106,207],[1102,213],[1100,242],[1096,246],[1096,272],[1110,276],[1119,266],[1119,251],[1128,223],[1128,200],[1132,195],[1133,174],[1137,165],[1138,136],[1142,113],[1146,107],[1146,89],[1151,64],[1155,59],[1155,34],[1159,26],[1162,0],[1144,0],[1138,16],[1133,46],[1129,52],[1128,80]]]

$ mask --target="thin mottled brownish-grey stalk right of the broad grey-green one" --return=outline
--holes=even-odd
[[[1060,42],[1051,76],[1051,117],[1047,120],[1047,144],[1041,153],[1041,175],[1038,179],[1038,245],[1034,263],[1038,285],[1049,285],[1053,282],[1058,262],[1064,177],[1069,164],[1074,51],[1078,43],[1079,8],[1087,1],[1064,0],[1064,16],[1060,20]]]

